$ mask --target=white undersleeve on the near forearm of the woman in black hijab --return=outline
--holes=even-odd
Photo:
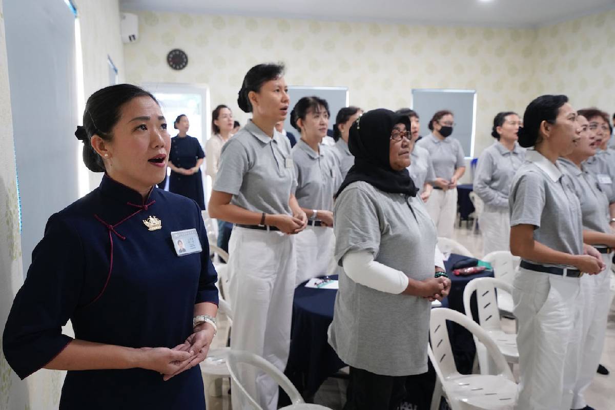
[[[408,287],[408,277],[401,270],[374,261],[369,251],[346,253],[342,266],[349,278],[368,288],[399,294]]]

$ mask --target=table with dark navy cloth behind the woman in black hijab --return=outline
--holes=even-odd
[[[493,277],[493,272],[485,271],[469,276],[454,276],[452,266],[466,258],[458,254],[451,254],[445,261],[446,271],[451,277],[451,293],[442,301],[443,307],[464,312],[463,290],[470,280],[478,277]],[[337,275],[331,276],[337,279]],[[327,342],[327,329],[333,320],[333,307],[335,305],[336,290],[306,288],[305,282],[295,290],[293,301],[293,321],[291,328],[290,353],[285,374],[306,401],[312,401],[320,385],[346,366],[335,350]],[[476,305],[473,298],[474,306]],[[474,309],[473,309],[474,310]],[[477,317],[477,315],[475,315]],[[451,345],[455,361],[460,371],[472,369],[474,363],[474,340],[465,329],[449,326]],[[408,398],[417,404],[417,409],[428,409],[434,389],[435,373],[430,364],[430,371],[408,378]],[[469,373],[469,372],[467,372]],[[416,403],[426,403],[421,405]]]

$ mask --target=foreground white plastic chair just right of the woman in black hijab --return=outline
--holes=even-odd
[[[459,374],[448,339],[446,320],[463,326],[485,345],[496,365],[496,375]],[[437,386],[431,403],[432,410],[438,409],[441,394],[446,396],[452,410],[513,408],[517,384],[498,346],[486,331],[478,326],[478,323],[455,310],[438,307],[431,310],[429,333],[433,350],[428,348],[427,353],[437,375]]]

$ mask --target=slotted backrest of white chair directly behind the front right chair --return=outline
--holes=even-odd
[[[486,330],[501,330],[498,298],[496,289],[512,292],[512,286],[496,278],[475,278],[470,280],[463,291],[463,307],[466,316],[474,320],[470,309],[470,298],[476,292],[476,304],[478,307],[478,323]]]

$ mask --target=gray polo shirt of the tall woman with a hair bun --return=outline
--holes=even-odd
[[[275,130],[271,138],[248,122],[222,147],[213,190],[232,194],[233,205],[250,211],[292,215],[295,184],[288,138]]]

